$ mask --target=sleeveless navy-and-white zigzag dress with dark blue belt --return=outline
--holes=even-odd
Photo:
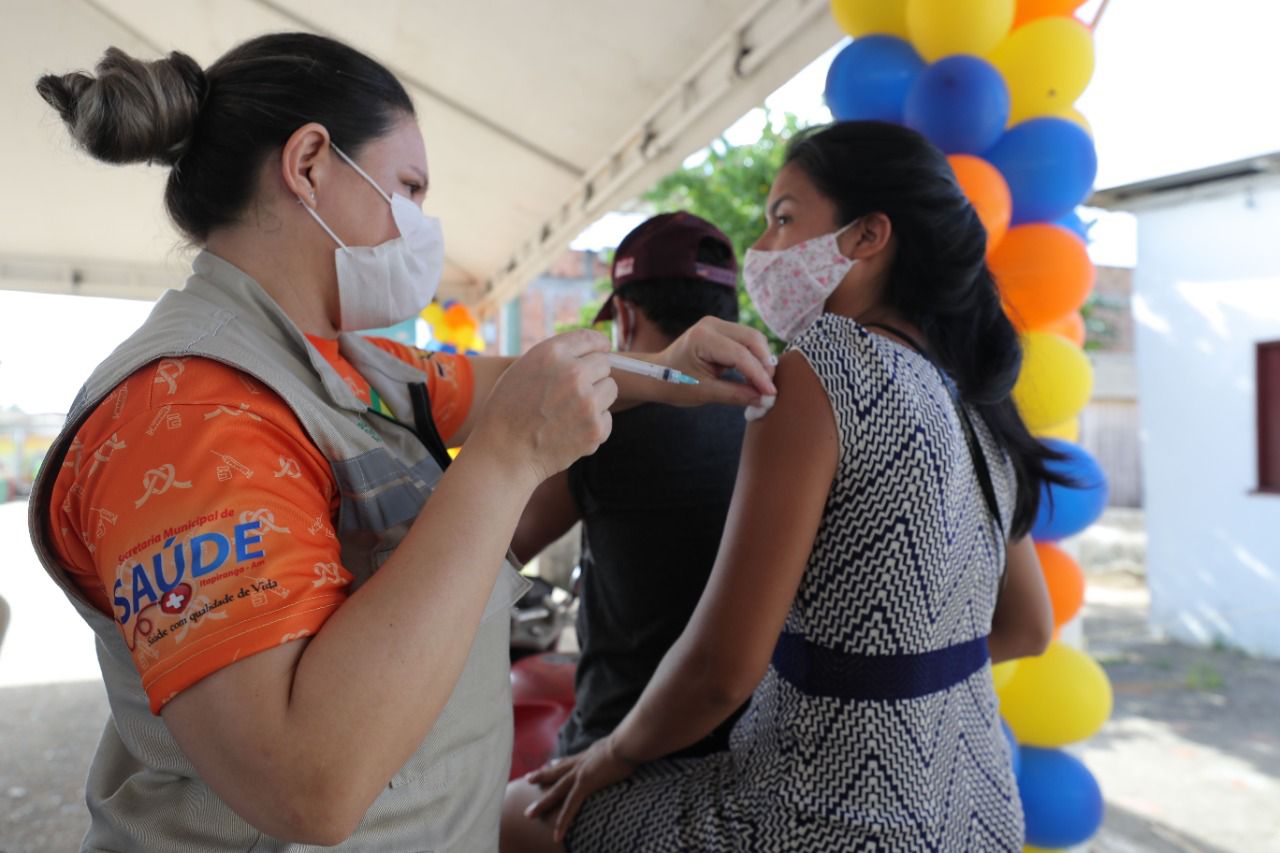
[[[827,391],[841,455],[768,672],[728,752],[596,793],[567,847],[1021,850],[986,648],[1005,547],[948,387],[838,315],[792,348]],[[1007,520],[1012,467],[972,420]]]

